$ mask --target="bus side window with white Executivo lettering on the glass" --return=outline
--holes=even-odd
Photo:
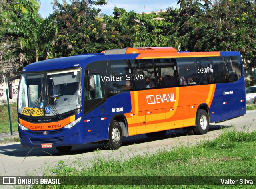
[[[200,85],[214,83],[210,58],[202,57],[197,59],[197,73]]]

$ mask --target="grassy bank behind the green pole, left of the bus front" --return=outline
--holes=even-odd
[[[18,131],[17,122],[17,104],[10,104],[11,120],[12,120],[12,131]],[[10,122],[8,114],[8,106],[0,106],[0,133],[10,132]]]

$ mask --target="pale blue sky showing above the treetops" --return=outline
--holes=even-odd
[[[46,18],[52,10],[53,0],[40,0],[41,8],[39,13]],[[100,6],[101,13],[112,15],[114,7],[124,8],[127,12],[133,10],[136,13],[166,10],[169,7],[177,7],[178,0],[108,0],[106,6]]]

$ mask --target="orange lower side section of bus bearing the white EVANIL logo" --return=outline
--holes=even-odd
[[[198,106],[206,103],[210,108],[215,88],[211,84],[132,91],[132,111],[125,114],[129,136],[195,125]]]

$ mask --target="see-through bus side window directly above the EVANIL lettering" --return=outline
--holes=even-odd
[[[155,59],[155,65],[159,88],[178,86],[175,59]]]

